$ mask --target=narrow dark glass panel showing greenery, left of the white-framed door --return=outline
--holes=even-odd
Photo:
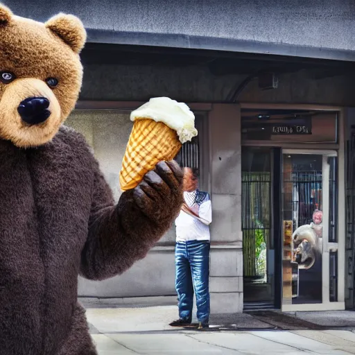
[[[272,149],[242,148],[244,308],[274,306]]]

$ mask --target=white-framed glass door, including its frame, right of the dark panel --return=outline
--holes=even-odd
[[[283,311],[336,301],[336,166],[335,151],[283,150]]]

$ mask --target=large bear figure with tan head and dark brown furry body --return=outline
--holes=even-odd
[[[182,171],[160,162],[114,205],[85,139],[62,123],[78,99],[85,29],[0,5],[0,353],[94,355],[78,275],[119,275],[171,227]]]

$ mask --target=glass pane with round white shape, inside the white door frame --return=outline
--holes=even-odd
[[[284,302],[322,302],[322,155],[284,155]]]

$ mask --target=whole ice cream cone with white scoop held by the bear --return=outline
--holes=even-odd
[[[134,124],[119,175],[123,191],[137,187],[157,163],[173,159],[198,134],[189,107],[167,97],[150,98],[130,119]]]

